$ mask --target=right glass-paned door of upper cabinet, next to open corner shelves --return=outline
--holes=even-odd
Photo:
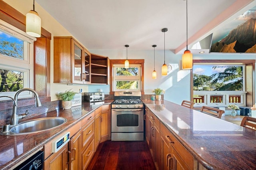
[[[91,76],[90,76],[90,63],[91,63],[91,55],[86,49],[84,49],[84,69],[83,69],[83,80],[84,83],[90,83]]]

